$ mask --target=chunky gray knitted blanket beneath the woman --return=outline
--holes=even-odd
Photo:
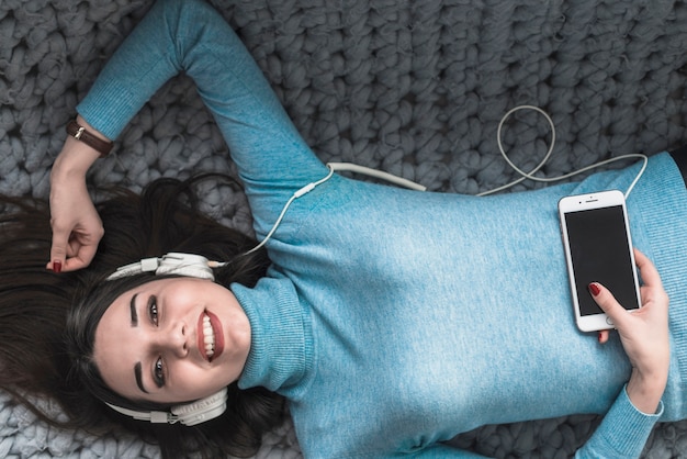
[[[0,0],[0,192],[46,197],[64,126],[151,0]],[[556,143],[541,175],[685,138],[687,4],[674,0],[215,0],[290,115],[326,161],[352,161],[430,190],[477,193],[516,178],[497,125],[544,109]],[[534,112],[505,123],[523,170],[551,132]],[[90,176],[138,190],[160,176],[228,171],[191,81],[166,85]],[[542,184],[526,181],[516,189]],[[250,232],[240,193],[203,190],[205,210]],[[46,410],[58,410],[45,401]],[[489,457],[567,457],[598,418],[577,415],[461,435]],[[93,438],[36,423],[0,393],[0,457],[156,457],[127,434]],[[260,458],[297,458],[290,422]],[[687,423],[658,425],[645,457],[687,457]]]

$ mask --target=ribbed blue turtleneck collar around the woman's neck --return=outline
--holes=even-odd
[[[251,327],[250,351],[238,380],[240,389],[263,387],[284,394],[301,382],[312,363],[308,315],[286,278],[263,278],[255,288],[232,291]]]

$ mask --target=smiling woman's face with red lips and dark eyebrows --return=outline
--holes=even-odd
[[[129,400],[178,403],[236,381],[250,324],[236,296],[204,279],[160,279],[119,296],[95,328],[104,382]]]

